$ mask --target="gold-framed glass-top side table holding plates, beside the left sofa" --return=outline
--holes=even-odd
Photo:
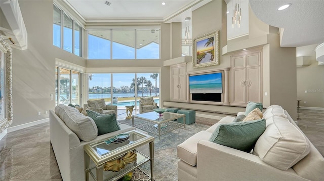
[[[116,138],[117,135],[129,135],[129,138],[120,143],[111,143],[110,141]],[[154,137],[137,130],[117,135],[84,146],[86,180],[89,180],[89,174],[95,180],[117,180],[148,161],[150,161],[150,178],[153,180]],[[149,157],[136,150],[146,144],[149,144]],[[120,171],[104,171],[106,162],[120,159],[129,152],[137,154],[134,163],[128,163]],[[95,164],[93,167],[90,167],[90,158]]]

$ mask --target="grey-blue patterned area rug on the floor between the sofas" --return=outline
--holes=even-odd
[[[127,124],[132,126],[132,120],[118,120],[119,123]],[[134,119],[134,125],[145,123],[139,119]],[[158,139],[158,135],[153,133],[148,133],[155,138],[154,141],[154,180],[155,181],[172,181],[178,180],[178,161],[177,158],[177,146],[191,137],[193,134],[206,130],[209,125],[194,123],[185,126],[185,128],[179,127],[172,130],[164,135],[161,135]],[[145,131],[145,130],[144,130]],[[150,164],[149,162],[143,164],[141,169],[150,174]]]

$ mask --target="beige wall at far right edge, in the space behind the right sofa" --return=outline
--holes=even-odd
[[[324,109],[324,65],[318,65],[316,61],[316,47],[317,44],[297,48],[297,57],[307,56],[311,63],[297,67],[297,99],[302,100],[302,107]]]

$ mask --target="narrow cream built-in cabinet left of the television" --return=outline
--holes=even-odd
[[[187,101],[186,63],[170,66],[171,70],[171,101]]]

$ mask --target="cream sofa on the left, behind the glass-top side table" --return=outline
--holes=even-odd
[[[97,133],[93,135],[97,127],[95,127],[93,120],[89,123],[89,120],[91,120],[89,118],[79,113],[77,109],[64,104],[56,106],[55,112],[50,110],[50,139],[63,180],[85,180],[84,145],[135,129],[135,127],[126,124],[119,124],[120,130],[97,136]],[[73,132],[67,126],[67,124],[70,125],[70,123],[67,123],[67,119],[74,122],[88,121],[89,124],[86,123],[86,125],[84,124],[85,121],[79,121],[76,127],[89,130],[87,133],[83,132],[83,135],[79,135],[79,137],[89,141],[80,140],[77,136],[80,132],[74,133],[76,131]]]

